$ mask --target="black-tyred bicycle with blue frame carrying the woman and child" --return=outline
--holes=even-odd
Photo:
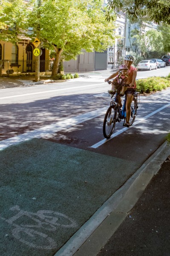
[[[111,83],[111,81],[107,81],[107,82],[109,84]],[[125,86],[128,86],[128,85],[125,85]],[[104,117],[103,135],[105,138],[110,138],[110,136],[112,135],[112,133],[115,129],[116,122],[120,123],[121,120],[124,119],[124,123],[125,123],[125,120],[126,120],[126,100],[127,100],[126,94],[125,94],[124,104],[122,106],[122,109],[120,108],[120,106],[118,104],[118,95],[120,94],[121,87],[122,87],[122,85],[120,85],[118,88],[116,88],[115,98],[113,100],[111,100],[110,106],[107,109],[107,112]],[[134,99],[130,106],[130,108],[131,108],[130,122],[129,122],[130,126],[135,121],[135,117],[137,115],[136,113],[137,113],[137,109],[138,109],[138,94],[139,94],[139,92],[136,92],[136,91],[134,92]],[[113,96],[114,95],[112,95],[112,97]],[[124,123],[123,123],[123,126],[124,126]]]

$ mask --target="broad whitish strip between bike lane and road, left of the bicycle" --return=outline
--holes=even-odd
[[[78,115],[73,118],[68,118],[66,120],[57,122],[55,124],[47,125],[45,127],[41,127],[39,129],[35,129],[30,132],[26,132],[12,138],[7,138],[6,140],[0,141],[0,150],[3,150],[4,148],[12,146],[14,144],[18,144],[22,141],[30,140],[32,138],[43,138],[47,135],[53,134],[63,129],[67,129],[69,127],[88,121],[92,118],[96,118],[99,115],[104,114],[107,111],[107,108],[108,106],[85,113],[83,115]]]

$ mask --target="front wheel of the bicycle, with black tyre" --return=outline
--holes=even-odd
[[[116,106],[109,106],[107,109],[106,115],[104,117],[103,123],[103,135],[105,138],[110,138],[115,129],[117,117],[117,107]]]

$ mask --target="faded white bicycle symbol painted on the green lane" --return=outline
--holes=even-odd
[[[49,211],[49,210],[40,210],[40,211],[37,211],[37,213],[26,212],[21,210],[20,207],[17,205],[10,208],[10,210],[17,211],[18,213],[9,219],[6,219],[0,216],[0,219],[3,221],[6,221],[7,223],[11,224],[14,227],[14,229],[12,230],[12,235],[14,236],[14,238],[18,239],[24,244],[27,244],[37,249],[46,249],[46,250],[55,249],[57,247],[57,243],[53,238],[49,237],[45,233],[37,231],[36,229],[41,228],[43,230],[54,232],[57,230],[58,226],[65,227],[65,228],[77,227],[76,222],[72,220],[72,218],[69,218],[60,212]],[[36,224],[18,225],[14,223],[14,221],[23,217],[31,218],[33,221],[36,222]],[[62,219],[62,222],[63,222],[63,219],[65,219],[66,224],[60,223],[61,219]],[[23,222],[23,219],[22,219],[22,222]],[[28,241],[22,237],[23,233],[28,235]],[[41,245],[38,245],[32,241],[29,241],[29,238],[31,238],[31,240],[36,241],[37,236],[39,236],[42,239],[45,239],[46,243],[43,244],[43,242],[40,240]]]

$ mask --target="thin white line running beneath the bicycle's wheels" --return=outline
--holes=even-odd
[[[144,118],[140,118],[140,120],[138,120],[137,122],[135,122],[135,124],[133,124],[133,126],[130,126],[129,128],[124,127],[123,129],[121,129],[121,130],[115,132],[114,134],[112,134],[112,135],[110,136],[110,138],[108,138],[108,139],[105,138],[105,139],[103,139],[102,141],[99,141],[98,143],[92,145],[91,147],[92,147],[92,148],[100,147],[101,145],[103,145],[103,144],[106,143],[107,141],[111,140],[112,138],[116,137],[117,135],[121,134],[122,132],[125,132],[127,129],[130,129],[130,128],[134,127],[136,124],[139,124],[139,123],[144,122],[147,118],[150,118],[150,116],[155,115],[156,113],[158,113],[158,112],[161,111],[162,109],[167,108],[168,106],[170,106],[170,103],[168,103],[167,105],[161,107],[160,109],[157,109],[156,111],[150,113],[149,115],[146,115]]]

